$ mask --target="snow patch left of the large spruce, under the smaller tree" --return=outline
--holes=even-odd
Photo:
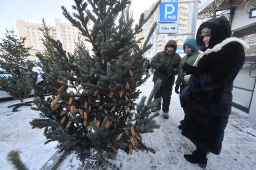
[[[33,97],[25,102],[33,100]],[[19,100],[8,100],[0,102],[0,169],[13,169],[7,161],[7,154],[19,151],[20,159],[28,169],[40,169],[43,164],[55,153],[57,142],[47,145],[43,136],[43,129],[31,129],[29,124],[33,118],[39,118],[39,112],[33,111],[29,106],[22,106],[20,112],[11,112],[10,105],[18,103]]]

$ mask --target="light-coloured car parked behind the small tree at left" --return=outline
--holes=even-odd
[[[42,88],[43,94],[45,96],[49,96],[49,95],[51,95],[51,93],[49,93],[49,91],[44,90],[44,88],[47,86],[47,83],[40,76],[40,70],[41,70],[40,67],[33,68],[33,71],[35,71],[38,74],[36,84],[39,85],[40,88]],[[5,77],[11,76],[10,73],[8,73],[6,70],[4,70],[4,68],[1,68],[1,67],[0,67],[0,74]],[[31,91],[31,95],[33,95],[33,94],[34,94],[34,90]],[[6,93],[5,91],[3,91],[2,88],[0,87],[0,99],[10,98],[10,97],[11,96],[8,93]]]

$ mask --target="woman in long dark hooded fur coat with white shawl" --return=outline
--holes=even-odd
[[[226,17],[202,23],[196,35],[202,53],[193,66],[183,67],[191,73],[184,76],[184,81],[189,82],[193,99],[182,134],[196,145],[196,150],[184,157],[202,168],[207,165],[207,152],[220,154],[231,113],[233,80],[245,61],[243,47],[248,47],[239,38],[230,37]]]

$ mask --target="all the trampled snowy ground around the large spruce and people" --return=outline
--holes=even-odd
[[[145,85],[140,87],[141,96],[149,96],[152,87],[151,76]],[[46,141],[43,130],[31,129],[29,124],[33,118],[38,117],[38,113],[31,111],[27,106],[20,108],[21,112],[12,113],[7,106],[16,102],[17,100],[0,101],[0,169],[12,169],[6,159],[11,150],[20,151],[20,157],[29,169],[40,169],[55,152],[57,142],[43,145]],[[183,158],[183,154],[195,150],[195,145],[184,138],[178,129],[179,121],[183,119],[184,114],[179,97],[174,91],[169,114],[168,120],[161,115],[156,118],[161,125],[160,129],[143,135],[145,144],[155,148],[157,153],[139,151],[127,155],[118,151],[113,163],[121,169],[200,169],[198,165],[186,162]],[[206,169],[256,169],[255,153],[256,126],[247,121],[246,114],[240,114],[236,110],[229,117],[220,155],[208,154]],[[76,155],[70,154],[58,169],[81,169],[81,166],[82,163],[76,160]]]

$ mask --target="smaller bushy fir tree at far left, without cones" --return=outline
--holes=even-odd
[[[5,38],[0,43],[0,67],[4,71],[0,74],[0,87],[14,99],[19,99],[20,104],[15,106],[13,111],[22,105],[30,106],[29,102],[23,100],[30,96],[36,74],[33,73],[33,62],[26,60],[30,55],[25,47],[25,38],[18,38],[14,31],[6,31]],[[10,106],[9,106],[10,107]]]

